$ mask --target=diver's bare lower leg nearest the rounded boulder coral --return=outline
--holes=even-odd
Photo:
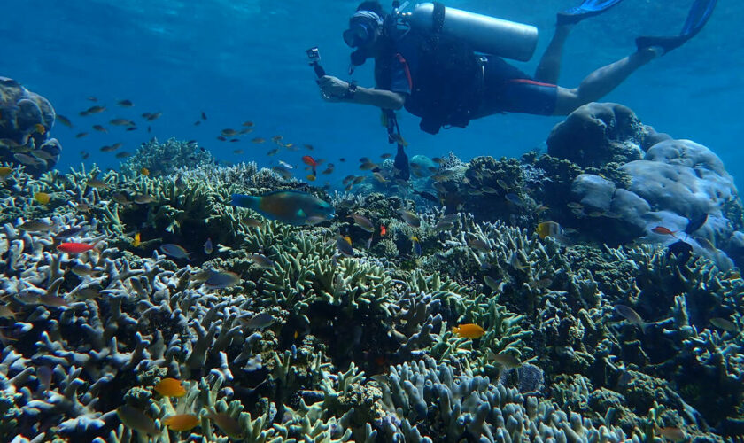
[[[597,101],[606,96],[612,89],[624,82],[636,69],[646,65],[658,55],[660,54],[657,49],[644,48],[633,52],[626,58],[617,60],[615,63],[602,66],[592,74],[587,75],[584,81],[578,85],[578,88],[558,88],[554,115],[568,115],[578,106]]]

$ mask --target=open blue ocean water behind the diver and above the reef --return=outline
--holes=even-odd
[[[554,26],[554,14],[575,0],[452,0],[449,6],[536,25],[539,48],[527,63],[534,70]],[[337,160],[391,152],[376,109],[328,104],[319,96],[305,50],[317,45],[329,74],[348,80],[349,49],[341,33],[357,2],[285,0],[5,0],[0,20],[3,57],[0,74],[22,82],[48,97],[58,113],[75,127],[57,124],[52,136],[64,147],[58,165],[88,162],[117,167],[105,144],[136,147],[151,136],[163,140],[196,139],[218,159],[255,160],[268,165],[277,159],[299,163],[298,152],[267,158],[267,145],[216,140],[222,128],[237,128],[252,120],[252,136],[282,135],[285,142],[313,144],[315,155]],[[637,35],[675,34],[692,0],[675,2],[625,0],[611,11],[580,23],[564,51],[561,84],[576,86],[594,68],[634,51]],[[709,25],[677,51],[653,61],[613,91],[607,101],[630,106],[639,118],[675,138],[708,145],[741,180],[744,156],[740,140],[740,88],[744,74],[744,37],[740,23],[744,4],[722,0]],[[372,85],[371,61],[357,70],[361,85]],[[105,113],[80,117],[93,105]],[[129,99],[135,107],[121,108]],[[208,120],[193,123],[204,111]],[[162,112],[150,123],[141,113]],[[492,116],[473,121],[467,129],[430,136],[418,129],[418,119],[402,113],[401,124],[412,154],[442,155],[453,151],[461,159],[477,155],[518,156],[541,144],[559,117],[524,114]],[[137,120],[137,131],[110,127],[108,134],[90,127],[116,118]],[[79,132],[89,136],[75,138]],[[233,150],[243,149],[243,154]],[[335,161],[338,165],[338,162]],[[336,183],[347,171],[337,168]],[[336,184],[334,183],[334,184]]]

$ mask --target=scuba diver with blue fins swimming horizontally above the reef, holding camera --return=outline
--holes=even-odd
[[[409,178],[408,160],[395,111],[401,107],[421,117],[430,134],[440,128],[465,128],[469,120],[495,113],[567,115],[599,100],[640,66],[672,51],[708,21],[717,0],[694,0],[679,35],[642,36],[637,51],[602,66],[577,88],[557,86],[562,48],[581,20],[607,11],[622,0],[585,0],[558,12],[555,34],[539,61],[534,77],[504,58],[526,61],[537,44],[537,29],[508,20],[464,12],[443,4],[418,4],[413,12],[384,12],[378,1],[359,5],[344,41],[354,48],[349,74],[368,58],[375,60],[375,88],[318,74],[322,98],[329,102],[373,105],[383,111],[388,141],[398,144],[396,175]],[[405,4],[403,6],[405,8]],[[322,75],[322,76],[321,76]]]

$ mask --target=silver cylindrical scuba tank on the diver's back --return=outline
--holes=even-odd
[[[441,11],[444,10],[444,13]],[[538,44],[538,28],[433,3],[400,14],[411,27],[461,39],[478,52],[527,61]]]

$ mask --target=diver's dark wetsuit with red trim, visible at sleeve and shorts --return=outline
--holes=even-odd
[[[408,99],[416,84],[419,54],[413,39],[407,36],[396,41],[395,49],[397,52],[390,65],[390,90],[404,94]],[[530,75],[509,65],[503,58],[484,55],[481,59],[484,60],[484,88],[477,109],[470,110],[471,119],[494,113],[554,113],[558,90],[556,85],[535,81]]]

